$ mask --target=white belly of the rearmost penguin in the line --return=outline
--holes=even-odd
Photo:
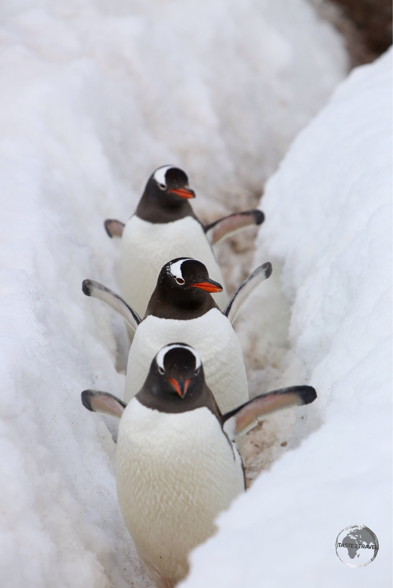
[[[202,226],[192,216],[169,223],[153,224],[138,216],[127,221],[121,239],[120,290],[141,318],[162,266],[178,257],[198,259],[207,267],[209,277],[224,287],[211,245]],[[228,302],[225,288],[213,296],[224,310]]]

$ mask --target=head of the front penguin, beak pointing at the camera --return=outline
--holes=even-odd
[[[159,350],[151,363],[149,389],[168,403],[195,402],[205,384],[199,354],[185,343],[171,343]]]

